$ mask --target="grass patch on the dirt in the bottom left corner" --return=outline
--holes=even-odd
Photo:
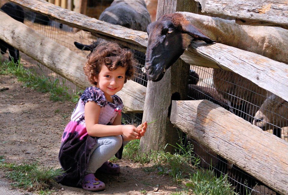
[[[3,159],[3,157],[1,157]],[[55,177],[61,175],[61,169],[44,167],[38,162],[22,164],[2,162],[0,168],[10,179],[13,187],[23,188],[29,191],[38,191],[41,194],[49,194],[49,188],[55,183]]]

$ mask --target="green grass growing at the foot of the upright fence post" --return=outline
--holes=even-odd
[[[184,146],[176,144],[175,153],[152,151],[150,155],[144,156],[139,153],[140,140],[130,141],[123,150],[122,157],[134,162],[151,162],[152,167],[143,168],[143,171],[158,171],[158,175],[168,175],[182,189],[173,192],[173,195],[190,194],[191,191],[196,195],[235,195],[227,180],[227,176],[215,177],[211,170],[198,170],[196,165],[199,159],[193,155],[193,145]]]

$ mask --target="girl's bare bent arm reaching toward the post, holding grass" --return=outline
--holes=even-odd
[[[121,125],[121,116],[116,117],[117,125],[98,124],[101,107],[94,101],[88,101],[85,104],[85,124],[88,135],[92,137],[106,137],[113,135],[124,135],[129,140],[137,139],[139,133],[133,125]],[[120,118],[119,118],[120,117]],[[114,123],[113,123],[114,124]],[[119,125],[118,125],[119,124]]]

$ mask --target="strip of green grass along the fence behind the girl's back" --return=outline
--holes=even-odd
[[[24,68],[21,63],[19,66],[8,60],[0,63],[0,74],[16,76],[17,80],[22,82],[22,86],[48,92],[50,94],[49,99],[52,101],[69,100],[75,103],[79,100],[78,95],[75,97],[69,95],[68,88],[65,86],[66,79],[63,79],[61,85],[58,78],[38,76],[34,70]]]

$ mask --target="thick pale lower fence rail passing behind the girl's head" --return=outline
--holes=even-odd
[[[91,85],[85,79],[82,69],[86,58],[55,43],[50,38],[38,34],[3,12],[0,12],[0,26],[0,39],[6,43],[16,47],[81,88]],[[146,87],[131,80],[127,81],[122,91],[117,93],[125,105],[126,112],[143,112],[145,94]]]

